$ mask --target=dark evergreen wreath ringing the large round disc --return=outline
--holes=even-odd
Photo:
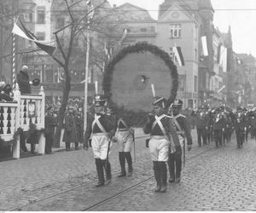
[[[122,117],[127,117],[131,120],[131,123],[136,124],[137,126],[142,126],[144,124],[144,118],[146,116],[146,112],[131,112],[125,111],[123,107],[118,107],[112,100],[112,91],[111,91],[111,84],[113,81],[113,69],[114,66],[122,59],[125,58],[126,55],[132,53],[143,53],[143,52],[150,52],[153,55],[160,57],[161,60],[164,60],[166,66],[170,70],[170,74],[172,76],[172,89],[170,96],[167,99],[167,107],[171,105],[177,95],[177,66],[172,62],[170,55],[168,55],[164,50],[160,49],[159,47],[147,43],[135,43],[121,49],[117,55],[113,57],[112,60],[108,62],[108,65],[105,68],[104,76],[103,76],[103,83],[102,87],[104,90],[104,94],[108,99],[109,105],[113,108],[113,112],[117,115],[121,115]]]

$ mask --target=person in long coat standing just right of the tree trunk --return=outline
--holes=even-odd
[[[63,141],[66,143],[66,151],[70,151],[70,143],[75,144],[75,149],[79,148],[78,135],[76,130],[75,118],[73,116],[73,107],[68,107],[68,111],[64,117],[64,135]]]

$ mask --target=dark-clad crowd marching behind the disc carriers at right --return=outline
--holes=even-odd
[[[256,136],[256,108],[230,107],[209,108],[207,106],[196,108],[191,116],[195,117],[198,137],[198,146],[207,145],[215,141],[216,147],[224,146],[230,142],[231,135],[236,132],[237,148],[241,148],[247,141],[248,133],[252,138]]]

